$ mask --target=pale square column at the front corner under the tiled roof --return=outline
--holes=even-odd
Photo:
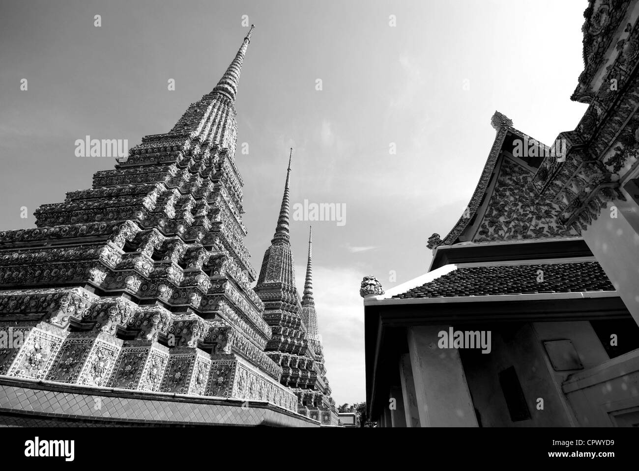
[[[408,329],[408,350],[422,427],[477,427],[477,417],[456,348],[439,348],[449,325]]]

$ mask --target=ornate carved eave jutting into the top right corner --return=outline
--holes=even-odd
[[[639,3],[591,0],[582,31],[585,69],[571,97],[589,103],[567,142],[562,160],[546,158],[535,190],[562,204],[560,221],[587,227],[608,201],[625,197],[619,182],[637,153],[636,94],[639,66]]]

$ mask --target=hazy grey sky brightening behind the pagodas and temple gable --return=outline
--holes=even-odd
[[[346,208],[339,224],[291,221],[291,244],[301,292],[312,224],[332,395],[363,401],[362,277],[390,288],[426,273],[427,238],[443,238],[468,204],[495,110],[546,143],[575,128],[586,108],[569,100],[583,70],[586,6],[0,0],[0,230],[35,227],[38,206],[91,188],[94,172],[112,168],[113,158],[75,156],[75,140],[132,147],[171,130],[226,70],[246,15],[256,28],[236,99],[245,243],[259,271],[294,147],[291,205]]]

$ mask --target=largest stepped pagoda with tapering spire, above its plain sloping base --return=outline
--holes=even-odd
[[[0,232],[0,330],[26,339],[0,350],[0,375],[296,411],[264,351],[272,329],[243,242],[235,98],[252,31],[171,131],[40,206],[36,228]]]

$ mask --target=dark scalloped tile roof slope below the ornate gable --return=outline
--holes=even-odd
[[[543,281],[539,270],[543,271]],[[393,297],[414,299],[613,290],[615,288],[597,262],[579,262],[458,268]]]

